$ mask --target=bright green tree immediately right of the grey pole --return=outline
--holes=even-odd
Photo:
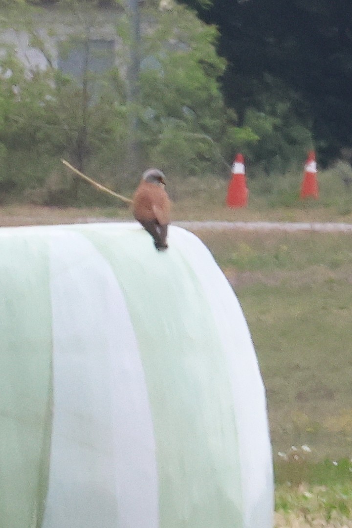
[[[225,106],[217,32],[180,6],[153,16],[155,30],[144,41],[140,76],[141,131],[150,147],[145,154],[178,174],[223,172],[224,158],[258,137],[249,127],[238,127]]]

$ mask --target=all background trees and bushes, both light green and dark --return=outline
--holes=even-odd
[[[0,5],[1,33],[25,32],[45,62],[24,63],[15,44],[1,46],[3,203],[110,203],[68,174],[61,157],[130,193],[151,165],[173,181],[202,180],[195,188],[224,181],[241,152],[252,188],[279,205],[292,201],[289,187],[297,187],[309,149],[316,148],[319,167],[344,148],[349,160],[350,15],[331,18],[328,2],[247,0],[226,9],[219,0]],[[91,63],[102,52],[89,46],[102,13],[115,25],[118,45],[110,67],[97,69]],[[77,27],[61,54],[77,51],[78,40],[88,50],[74,76],[57,67],[48,38],[55,40],[61,16]],[[327,71],[326,62],[334,68]],[[286,188],[277,185],[282,177]]]

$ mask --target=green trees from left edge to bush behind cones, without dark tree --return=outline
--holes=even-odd
[[[154,0],[140,7],[144,31],[134,98],[123,74],[132,45],[128,9],[120,9],[117,17],[120,67],[97,76],[87,60],[74,79],[53,67],[50,46],[36,25],[24,24],[32,12],[26,13],[23,2],[15,8],[10,4],[3,27],[30,33],[47,67],[29,71],[11,46],[0,55],[0,191],[45,186],[45,200],[77,200],[77,186],[65,181],[60,157],[121,191],[135,185],[140,170],[150,165],[179,176],[227,177],[234,154],[241,151],[256,173],[268,175],[301,164],[312,146],[311,116],[305,115],[297,92],[269,73],[251,84],[243,68],[234,72],[234,63],[217,53],[215,27],[172,0],[162,9]],[[68,42],[68,51],[77,37],[89,43],[87,28],[96,20],[91,4],[87,0],[65,8],[83,27],[82,35]],[[206,18],[214,6],[198,4],[199,12]],[[57,9],[53,17],[60,16]],[[35,13],[36,20],[41,10],[47,7]],[[230,86],[236,87],[232,97]]]

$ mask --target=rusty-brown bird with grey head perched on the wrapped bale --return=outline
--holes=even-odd
[[[132,198],[132,212],[154,239],[158,250],[167,249],[167,226],[170,221],[170,200],[165,191],[165,176],[156,168],[142,174]]]

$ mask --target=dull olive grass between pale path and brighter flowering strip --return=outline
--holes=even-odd
[[[273,449],[352,456],[350,234],[198,233],[240,300],[267,388]]]

